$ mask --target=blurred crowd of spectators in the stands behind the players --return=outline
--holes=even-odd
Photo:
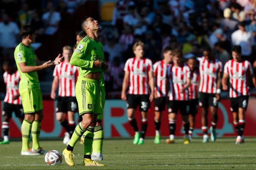
[[[43,42],[85,1],[0,1],[0,62],[13,57],[23,25],[33,25],[36,41]],[[99,41],[110,65],[105,74],[106,91],[121,91],[124,63],[134,56],[132,44],[139,40],[153,62],[162,59],[162,51],[169,45],[181,49],[185,58],[200,56],[201,49],[209,46],[224,65],[231,59],[232,45],[241,45],[243,57],[253,63],[255,6],[256,0],[118,0],[112,21],[99,21],[103,25]]]

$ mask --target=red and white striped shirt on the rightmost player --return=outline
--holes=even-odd
[[[229,74],[229,96],[249,95],[248,76],[253,75],[253,67],[247,60],[236,62],[229,60],[224,66],[224,73]]]

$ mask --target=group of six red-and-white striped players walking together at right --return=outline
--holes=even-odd
[[[174,143],[178,111],[183,120],[184,144],[189,144],[192,141],[198,107],[201,108],[202,113],[202,142],[209,141],[208,110],[211,115],[210,138],[211,141],[216,141],[217,108],[220,101],[221,85],[223,90],[228,90],[228,79],[230,80],[231,112],[238,134],[236,144],[244,142],[244,115],[249,99],[248,82],[252,79],[256,88],[256,79],[252,65],[242,59],[241,46],[232,48],[233,59],[225,64],[224,71],[222,63],[212,57],[209,48],[203,49],[202,57],[184,61],[180,50],[166,47],[163,51],[163,60],[154,65],[151,60],[144,57],[142,42],[135,43],[133,51],[135,57],[128,59],[125,64],[121,98],[127,101],[128,120],[135,131],[134,144],[144,144],[147,130],[147,110],[153,100],[155,105],[155,144],[160,142],[160,120],[165,105],[167,105],[170,127],[167,144]],[[221,79],[222,72],[223,78]],[[126,94],[127,88],[128,94]],[[134,118],[138,105],[141,113],[141,131],[138,130]]]

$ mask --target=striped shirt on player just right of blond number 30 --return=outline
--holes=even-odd
[[[170,64],[164,63],[163,60],[156,62],[154,67],[154,75],[155,75],[155,92],[157,97],[165,97],[166,96],[166,75],[167,68]]]

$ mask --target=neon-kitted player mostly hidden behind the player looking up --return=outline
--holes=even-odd
[[[76,43],[78,44],[82,39],[86,36],[85,32],[82,31],[77,31],[76,32]],[[105,97],[106,97],[106,92],[105,92],[105,81],[104,81],[104,75],[103,72],[100,76],[100,89],[101,89],[101,98],[100,98],[100,103],[101,103],[101,112],[100,115],[97,117],[97,124],[94,129],[94,137],[93,137],[93,143],[92,143],[92,160],[103,160],[102,156],[102,146],[103,146],[103,127],[102,127],[102,118],[103,118],[103,110],[104,110],[104,105],[105,105]],[[86,132],[84,132],[81,142],[82,144],[84,143],[84,137],[86,136]]]

